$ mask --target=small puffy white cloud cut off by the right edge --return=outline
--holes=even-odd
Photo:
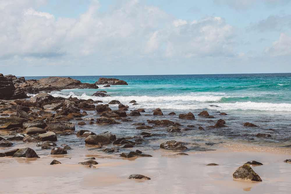
[[[279,40],[272,42],[272,47],[266,47],[265,53],[272,57],[291,55],[291,36],[287,32],[280,34]]]

